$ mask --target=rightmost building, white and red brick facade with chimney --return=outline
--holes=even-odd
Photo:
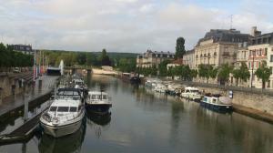
[[[255,30],[256,27],[253,27],[252,31]],[[253,36],[248,46],[248,69],[250,72],[248,87],[251,87],[252,84],[252,87],[261,88],[262,81],[254,73],[261,66],[262,61],[266,61],[268,67],[273,67],[273,33],[261,35],[258,32]],[[270,76],[266,88],[273,88],[273,75]]]

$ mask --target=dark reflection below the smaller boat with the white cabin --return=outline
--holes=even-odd
[[[111,121],[111,112],[107,112],[104,115],[98,115],[94,112],[86,112],[86,117],[100,126],[106,126]]]

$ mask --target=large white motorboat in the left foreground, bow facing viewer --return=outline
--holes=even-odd
[[[59,89],[56,99],[40,117],[45,134],[55,138],[76,132],[85,117],[85,107],[78,89]]]

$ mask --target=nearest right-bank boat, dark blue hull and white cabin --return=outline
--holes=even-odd
[[[200,105],[208,107],[220,112],[227,112],[232,110],[232,103],[229,97],[222,97],[221,95],[206,95],[200,101]]]

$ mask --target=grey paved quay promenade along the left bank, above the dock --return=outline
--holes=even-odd
[[[37,97],[45,95],[54,88],[54,84],[58,76],[41,76],[35,80],[35,87],[25,93],[17,94],[15,96],[5,97],[0,103],[0,117],[15,108],[22,107],[25,101],[31,101]],[[42,80],[42,87],[38,87],[38,81]]]

